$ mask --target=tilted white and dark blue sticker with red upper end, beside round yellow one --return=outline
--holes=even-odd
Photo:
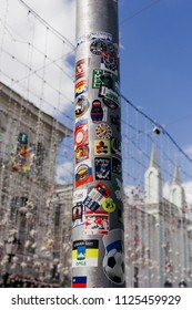
[[[87,198],[83,202],[84,208],[89,208],[92,211],[95,211],[101,207],[102,203],[111,195],[111,189],[104,185],[102,182],[99,182],[88,194]]]

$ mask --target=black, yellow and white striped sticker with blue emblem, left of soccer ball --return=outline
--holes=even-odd
[[[99,240],[77,240],[72,245],[72,267],[97,267]]]

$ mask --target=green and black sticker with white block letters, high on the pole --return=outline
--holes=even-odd
[[[115,87],[115,76],[114,76],[114,74],[112,74],[108,71],[104,71],[101,69],[94,69],[93,79],[92,79],[92,87],[100,89],[101,86],[114,89]]]

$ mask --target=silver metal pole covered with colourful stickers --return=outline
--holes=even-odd
[[[72,287],[124,287],[117,0],[77,0]]]

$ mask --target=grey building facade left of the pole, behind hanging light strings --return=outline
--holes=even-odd
[[[54,286],[62,281],[64,239],[58,223],[59,204],[52,200],[58,149],[70,134],[64,125],[0,83],[2,286]]]

